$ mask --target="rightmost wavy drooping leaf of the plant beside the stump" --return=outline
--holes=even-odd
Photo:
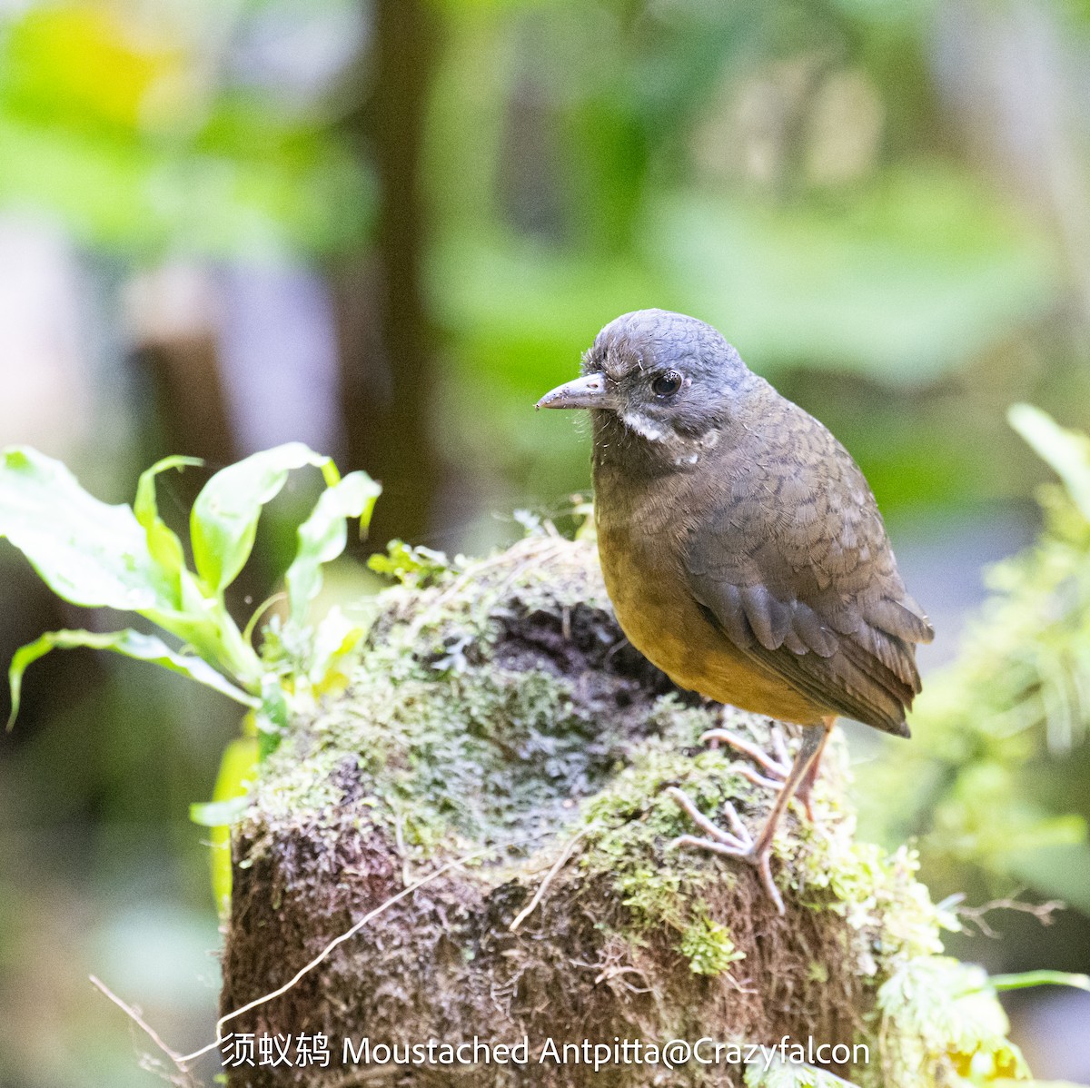
[[[302,627],[306,606],[322,589],[322,565],[344,551],[348,543],[346,519],[359,518],[361,529],[365,529],[382,489],[366,472],[350,472],[340,483],[322,493],[311,516],[299,527],[299,549],[284,576],[290,602],[289,622],[293,626]]]

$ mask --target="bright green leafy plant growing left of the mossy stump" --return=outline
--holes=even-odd
[[[322,566],[344,549],[347,519],[359,518],[365,527],[380,488],[364,472],[341,479],[330,458],[301,443],[254,454],[217,472],[197,495],[190,516],[190,569],[182,541],[159,517],[156,479],[199,463],[168,457],[141,475],[131,507],[110,506],[35,449],[0,451],[0,536],[65,601],[141,616],[171,638],[132,627],[48,631],[12,658],[8,726],[19,714],[23,674],[58,648],[109,650],[213,688],[249,711],[247,736],[225,754],[216,800],[193,807],[197,822],[217,826],[239,811],[237,798],[254,761],[276,747],[289,714],[340,681],[340,664],[362,637],[337,609],[317,627],[307,624],[306,614],[322,588]],[[299,525],[295,557],[284,576],[287,617],[266,627],[259,653],[253,629],[266,605],[240,630],[225,593],[250,557],[263,507],[291,470],[305,466],[322,471],[326,489]]]

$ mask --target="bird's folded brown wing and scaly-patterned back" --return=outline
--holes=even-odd
[[[689,531],[690,589],[736,646],[796,690],[907,736],[920,690],[913,644],[931,641],[931,625],[859,467],[766,388],[760,434],[722,455],[729,493]]]

